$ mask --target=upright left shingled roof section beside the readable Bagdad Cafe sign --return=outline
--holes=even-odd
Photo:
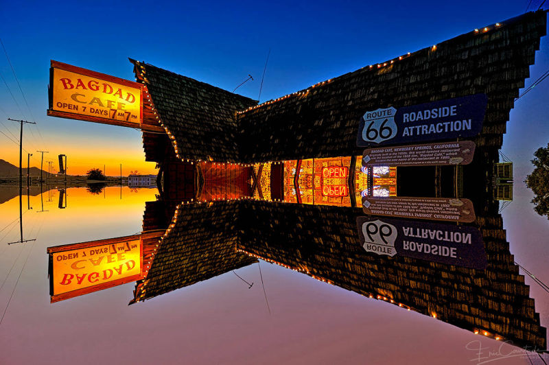
[[[163,127],[183,152],[181,156],[238,161],[235,113],[257,101],[151,64],[130,61],[137,80],[147,85]],[[143,143],[147,144],[145,140]]]

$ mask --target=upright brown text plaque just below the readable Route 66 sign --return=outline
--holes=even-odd
[[[474,153],[475,143],[471,141],[368,148],[362,155],[362,165],[467,165]]]

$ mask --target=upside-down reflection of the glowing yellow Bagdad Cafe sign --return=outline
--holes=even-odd
[[[51,303],[143,279],[140,235],[47,248]]]

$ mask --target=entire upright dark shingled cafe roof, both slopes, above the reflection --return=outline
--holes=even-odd
[[[501,145],[509,111],[545,34],[546,12],[529,12],[259,106],[247,97],[132,62],[180,158],[280,161],[360,154],[355,138],[366,110],[475,93],[489,98],[484,136],[475,142]]]

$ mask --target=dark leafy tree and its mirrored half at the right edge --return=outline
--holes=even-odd
[[[532,202],[536,213],[547,215],[549,219],[549,143],[546,148],[539,148],[534,156],[532,163],[535,169],[532,174],[526,176],[524,183],[535,194]]]

